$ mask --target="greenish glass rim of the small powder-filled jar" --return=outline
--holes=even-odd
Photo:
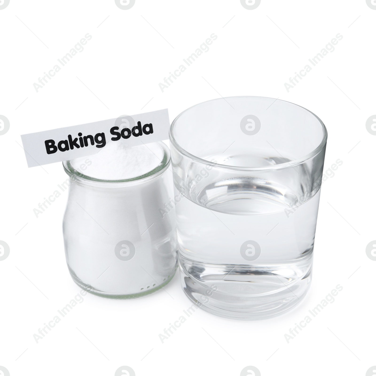
[[[168,147],[165,143],[162,141],[156,142],[161,149],[163,150],[163,157],[161,162],[159,162],[158,166],[153,168],[152,170],[139,175],[134,176],[129,179],[114,179],[114,180],[108,180],[108,179],[97,179],[96,177],[92,177],[89,175],[85,175],[80,171],[77,171],[71,164],[70,160],[62,162],[65,172],[68,174],[68,176],[73,177],[76,180],[82,180],[85,183],[99,183],[99,185],[102,184],[117,184],[121,185],[121,183],[132,183],[132,182],[144,182],[146,180],[150,180],[151,178],[154,178],[158,175],[160,175],[163,171],[167,170],[168,166],[171,163],[171,153]]]

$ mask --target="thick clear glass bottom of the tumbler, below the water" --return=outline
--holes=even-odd
[[[298,278],[281,268],[191,263],[180,258],[182,288],[204,311],[235,320],[278,316],[299,304],[311,283],[311,267]]]

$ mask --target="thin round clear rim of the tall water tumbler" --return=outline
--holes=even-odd
[[[219,163],[215,163],[215,162],[211,162],[211,161],[207,161],[206,159],[202,159],[202,158],[199,158],[189,152],[187,152],[185,149],[183,149],[176,141],[176,139],[174,138],[174,127],[176,126],[176,122],[177,120],[179,120],[180,117],[182,117],[182,115],[185,114],[185,112],[189,111],[190,109],[196,107],[196,106],[200,106],[204,103],[209,103],[209,102],[214,102],[214,101],[218,101],[218,100],[226,100],[226,99],[234,99],[234,98],[247,98],[247,99],[259,99],[259,98],[264,98],[264,99],[271,99],[271,100],[274,100],[274,102],[276,102],[277,100],[279,100],[280,102],[286,102],[286,103],[290,103],[294,106],[297,106],[297,107],[300,107],[302,109],[304,109],[305,111],[308,111],[309,113],[311,113],[317,120],[318,122],[321,124],[321,127],[323,129],[323,138],[321,140],[321,143],[314,149],[312,150],[312,152],[306,154],[305,156],[301,157],[301,158],[298,158],[298,159],[294,159],[293,161],[290,161],[290,162],[285,162],[285,163],[280,163],[280,164],[277,164],[277,165],[271,165],[271,166],[263,166],[263,167],[240,167],[240,166],[232,166],[232,165],[224,165],[224,164],[219,164]],[[274,103],[273,102],[273,103]],[[197,103],[196,105],[193,105],[191,106],[190,108],[187,108],[185,109],[183,112],[181,112],[179,115],[177,115],[177,117],[173,120],[173,122],[171,123],[171,126],[170,126],[170,130],[168,132],[168,135],[170,137],[170,142],[171,144],[173,144],[173,146],[183,155],[187,156],[188,158],[190,159],[193,159],[194,161],[196,162],[200,162],[202,164],[205,164],[205,165],[211,165],[211,166],[215,166],[215,167],[219,167],[219,168],[223,168],[223,169],[226,169],[226,170],[237,170],[237,171],[262,171],[262,170],[279,170],[281,168],[290,168],[290,167],[294,167],[296,165],[299,165],[301,164],[302,162],[314,157],[315,155],[317,155],[318,153],[321,152],[322,149],[324,149],[325,145],[326,145],[326,141],[327,141],[327,130],[326,130],[326,127],[323,123],[323,121],[317,116],[315,115],[312,111],[309,111],[308,109],[306,109],[305,107],[303,106],[299,106],[297,105],[296,103],[293,103],[293,102],[288,102],[287,100],[282,100],[282,99],[276,99],[276,98],[270,98],[270,97],[259,97],[259,96],[234,96],[234,97],[221,97],[221,98],[215,98],[215,99],[211,99],[211,100],[206,100],[205,102],[201,102],[201,103]]]

